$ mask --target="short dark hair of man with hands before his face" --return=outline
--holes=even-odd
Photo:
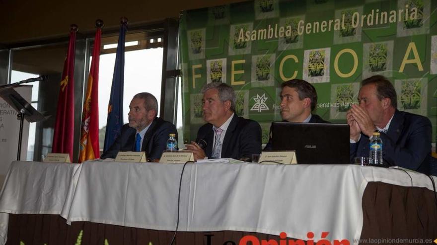
[[[394,89],[393,84],[391,84],[386,77],[382,75],[371,76],[361,82],[361,87],[368,84],[374,84],[376,86],[376,96],[379,100],[389,98],[390,105],[393,106],[393,108],[397,108],[398,99],[396,96],[396,90]]]

